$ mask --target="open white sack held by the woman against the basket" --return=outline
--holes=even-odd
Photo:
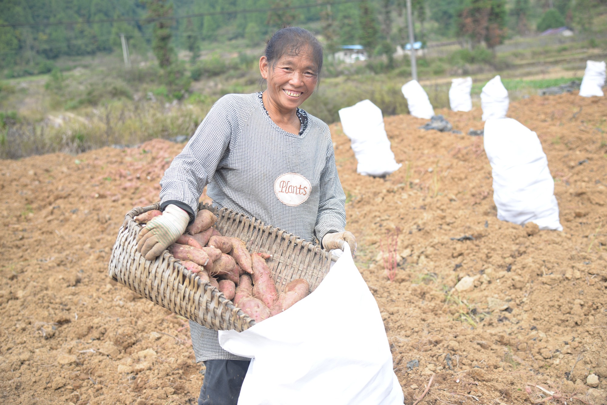
[[[350,247],[303,300],[219,344],[251,358],[239,405],[402,405],[378,304]],[[339,292],[348,294],[347,310]]]

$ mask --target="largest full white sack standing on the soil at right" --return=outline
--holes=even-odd
[[[493,169],[497,218],[540,229],[563,230],[548,159],[535,132],[516,119],[485,122],[484,147]]]

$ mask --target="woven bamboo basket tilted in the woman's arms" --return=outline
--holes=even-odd
[[[109,276],[144,298],[209,329],[242,332],[253,326],[253,319],[215,287],[185,269],[167,250],[152,261],[137,252],[137,235],[142,227],[133,218],[157,209],[159,202],[126,214],[112,249]],[[249,252],[273,255],[268,266],[279,292],[296,278],[306,279],[312,292],[329,271],[331,253],[319,246],[231,209],[217,210],[206,204],[200,204],[198,209],[214,212],[218,217],[217,230],[245,241]]]

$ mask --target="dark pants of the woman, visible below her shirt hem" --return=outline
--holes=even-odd
[[[207,360],[198,405],[236,405],[249,360]]]

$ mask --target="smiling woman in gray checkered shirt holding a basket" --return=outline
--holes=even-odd
[[[205,186],[218,207],[325,249],[347,242],[354,254],[328,126],[299,108],[316,89],[322,46],[303,28],[283,28],[268,41],[259,69],[267,89],[219,99],[164,173],[164,213],[140,233],[138,250],[146,259],[160,255],[194,220]],[[215,330],[191,322],[190,331],[196,361],[206,366],[198,404],[236,404],[249,359],[223,350]]]

